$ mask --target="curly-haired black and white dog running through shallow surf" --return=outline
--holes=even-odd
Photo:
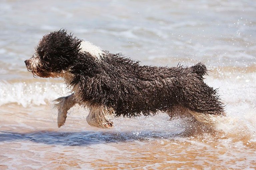
[[[58,127],[75,104],[89,108],[89,125],[110,128],[112,116],[134,117],[166,112],[171,118],[189,113],[203,121],[224,115],[217,91],[206,85],[206,67],[141,66],[139,62],[101,50],[66,30],[43,36],[26,67],[39,77],[62,77],[71,95],[55,101]]]

